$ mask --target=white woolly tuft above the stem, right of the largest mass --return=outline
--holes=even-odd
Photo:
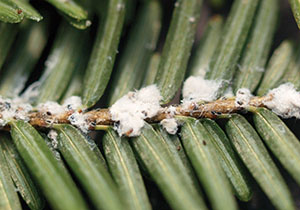
[[[222,81],[205,80],[203,77],[189,77],[183,85],[182,96],[183,103],[214,101],[217,98],[218,89]]]

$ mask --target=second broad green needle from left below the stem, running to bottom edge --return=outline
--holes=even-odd
[[[93,142],[71,125],[56,125],[59,151],[67,164],[82,182],[97,209],[121,209],[122,201]],[[99,154],[99,153],[98,153]]]

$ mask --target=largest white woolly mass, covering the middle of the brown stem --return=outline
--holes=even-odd
[[[160,110],[161,99],[156,85],[129,92],[109,109],[112,120],[118,122],[114,129],[120,136],[138,136],[145,124],[144,119],[155,116]]]

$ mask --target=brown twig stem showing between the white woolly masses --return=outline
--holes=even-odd
[[[264,107],[264,102],[271,100],[270,96],[252,97],[248,107]],[[235,98],[222,98],[208,103],[191,103],[188,107],[183,105],[171,105],[175,106],[175,114],[173,115],[169,111],[169,107],[162,107],[158,114],[152,118],[147,118],[145,121],[148,123],[158,123],[163,119],[176,117],[176,116],[188,116],[193,118],[210,118],[216,119],[226,114],[237,113],[244,111],[244,108],[238,107],[235,104]],[[246,109],[247,110],[247,109]],[[67,111],[61,115],[47,115],[44,112],[31,112],[29,113],[29,123],[35,127],[51,127],[55,124],[70,124],[68,120],[69,116],[74,111]],[[115,122],[111,119],[109,109],[94,109],[83,113],[88,123],[93,126],[90,130],[105,130],[108,125],[113,125]],[[0,115],[0,119],[1,119]]]

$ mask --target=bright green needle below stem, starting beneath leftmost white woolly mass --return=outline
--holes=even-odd
[[[87,209],[70,175],[57,163],[39,133],[23,121],[12,121],[10,126],[18,152],[51,206],[61,210]]]

